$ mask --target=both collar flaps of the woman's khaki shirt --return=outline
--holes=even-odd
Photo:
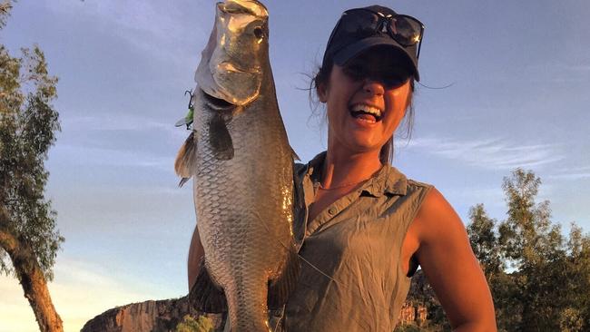
[[[326,159],[326,151],[320,152],[307,166],[307,176],[311,181],[320,181],[321,166]],[[406,195],[408,178],[395,167],[387,164],[381,167],[377,174],[367,181],[362,187],[362,192],[367,192],[374,197],[380,197],[384,193],[391,195]]]

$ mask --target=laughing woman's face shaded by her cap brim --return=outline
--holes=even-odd
[[[320,101],[328,112],[329,149],[376,151],[398,128],[411,88],[406,66],[387,50],[369,50],[345,66],[332,67],[328,84],[320,84]]]

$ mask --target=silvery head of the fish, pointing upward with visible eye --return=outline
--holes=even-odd
[[[217,4],[209,43],[195,73],[204,93],[239,106],[258,97],[269,66],[268,18],[266,7],[258,1]]]

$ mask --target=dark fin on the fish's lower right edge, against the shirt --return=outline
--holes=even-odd
[[[287,303],[290,294],[297,286],[301,263],[294,245],[290,246],[285,268],[282,274],[269,282],[268,305],[270,310],[282,308]]]

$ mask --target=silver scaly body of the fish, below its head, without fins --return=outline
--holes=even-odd
[[[274,98],[274,94],[270,94]],[[197,96],[194,199],[205,266],[224,289],[232,330],[268,330],[267,285],[292,242],[292,156],[275,101],[264,93],[227,127],[234,157],[215,158],[211,112]],[[201,109],[199,109],[201,108]]]

